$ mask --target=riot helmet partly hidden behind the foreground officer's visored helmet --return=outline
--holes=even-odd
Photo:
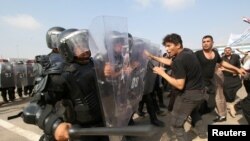
[[[50,49],[58,48],[58,37],[61,32],[63,32],[65,29],[62,27],[52,27],[50,28],[46,33],[46,42],[47,46]]]

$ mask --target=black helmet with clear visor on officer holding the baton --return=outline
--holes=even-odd
[[[74,60],[89,61],[91,52],[89,50],[88,30],[68,29],[59,36],[59,52],[67,62]]]

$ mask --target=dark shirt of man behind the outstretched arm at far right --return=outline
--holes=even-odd
[[[232,54],[230,59],[228,59],[226,56],[223,56],[222,60],[228,62],[229,64],[231,64],[231,65],[233,65],[233,66],[235,66],[237,68],[240,68],[240,56],[237,55],[237,54]],[[230,73],[230,72],[223,71],[223,74],[225,76],[233,76],[233,74]]]

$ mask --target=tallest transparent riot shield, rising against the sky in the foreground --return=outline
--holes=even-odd
[[[89,28],[100,100],[107,127],[127,126],[133,113],[127,95],[129,74],[126,18],[97,17]],[[128,60],[128,61],[125,61]],[[110,137],[118,141],[121,137]]]

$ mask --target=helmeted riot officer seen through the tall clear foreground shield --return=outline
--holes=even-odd
[[[111,30],[104,37],[103,50],[106,51],[93,55],[108,127],[127,125],[127,115],[130,115],[127,111],[131,111],[127,95],[129,81],[126,81],[126,68],[129,63],[125,61],[127,38],[127,33]]]

